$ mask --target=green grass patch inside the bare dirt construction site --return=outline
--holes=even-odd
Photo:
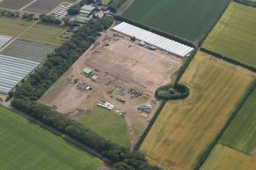
[[[125,118],[119,116],[114,111],[95,107],[89,114],[80,118],[79,122],[106,139],[112,140],[112,142],[123,146],[130,146]]]

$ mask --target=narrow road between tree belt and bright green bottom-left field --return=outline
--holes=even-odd
[[[73,139],[73,137],[66,135],[66,133],[62,133],[53,127],[49,127],[48,125],[44,124],[40,120],[34,119],[34,117],[31,117],[28,114],[24,114],[24,112],[22,112],[22,111],[18,111],[17,109],[15,109],[15,107],[12,107],[9,102],[6,102],[6,103],[0,102],[0,105],[8,108],[11,111],[14,111],[16,114],[19,114],[21,117],[24,117],[33,123],[37,123],[39,126],[44,127],[44,129],[49,130],[50,132],[56,134],[57,136],[61,136],[64,140],[67,140],[70,143],[73,143],[74,145],[79,146],[79,148],[84,149],[86,152],[89,152],[90,154],[92,154],[92,156],[96,156],[97,158],[102,159],[102,161],[104,161],[105,165],[109,166],[111,164],[109,159],[106,159],[105,157],[101,156],[98,152],[93,151],[88,146],[84,145],[83,143],[80,143],[78,140]]]

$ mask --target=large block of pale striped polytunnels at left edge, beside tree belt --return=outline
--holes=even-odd
[[[8,94],[39,63],[0,54],[0,92]]]

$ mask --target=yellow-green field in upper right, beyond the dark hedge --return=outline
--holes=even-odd
[[[256,8],[232,2],[203,47],[256,67]]]

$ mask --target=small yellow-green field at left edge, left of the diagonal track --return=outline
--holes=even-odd
[[[20,18],[0,17],[0,35],[16,37],[26,30],[34,21],[24,21]]]

